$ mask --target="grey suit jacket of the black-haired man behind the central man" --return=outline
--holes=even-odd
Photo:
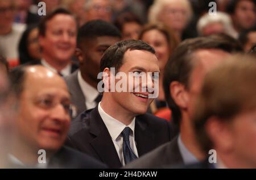
[[[68,90],[71,93],[71,102],[75,104],[77,108],[77,115],[86,110],[85,97],[77,78],[78,71],[79,70],[76,70],[71,75],[64,77],[68,85]]]

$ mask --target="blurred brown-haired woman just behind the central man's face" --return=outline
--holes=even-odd
[[[172,51],[176,48],[178,40],[174,32],[167,26],[161,23],[147,24],[143,27],[139,39],[145,41],[154,47],[156,57],[159,60],[159,97],[151,104],[151,112],[155,114],[161,108],[166,107],[166,101],[163,91],[163,71],[168,58],[171,56]]]

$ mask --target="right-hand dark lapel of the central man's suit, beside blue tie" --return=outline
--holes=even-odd
[[[154,137],[148,125],[143,120],[136,117],[135,119],[135,142],[139,156],[146,154],[150,150],[154,149]]]

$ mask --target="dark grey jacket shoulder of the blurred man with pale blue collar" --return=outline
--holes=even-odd
[[[171,142],[161,145],[159,148],[147,153],[146,155],[138,158],[125,166],[124,168],[130,169],[160,169],[169,168],[175,165],[184,165],[183,158],[181,157],[179,146],[177,144],[177,137]]]

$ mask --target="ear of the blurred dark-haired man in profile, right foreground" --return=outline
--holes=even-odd
[[[189,97],[188,92],[185,89],[185,86],[180,82],[173,81],[171,82],[169,88],[171,97],[172,99],[174,99],[177,106],[179,106],[180,108],[187,108]]]

